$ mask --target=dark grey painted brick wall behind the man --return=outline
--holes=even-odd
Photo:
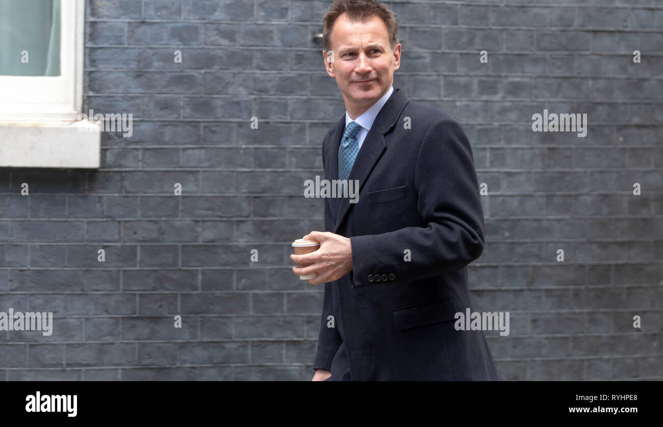
[[[288,243],[323,227],[302,185],[344,111],[329,4],[87,2],[85,111],[133,136],[103,134],[98,171],[0,170],[0,310],[56,316],[0,332],[0,379],[310,379],[322,287]],[[511,313],[487,332],[503,379],[663,379],[663,3],[388,4],[394,85],[463,124],[487,185],[469,278],[475,310]],[[532,132],[543,109],[587,136]]]

